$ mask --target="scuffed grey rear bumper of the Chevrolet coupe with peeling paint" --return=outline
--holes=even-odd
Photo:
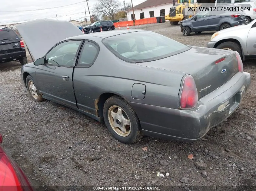
[[[202,97],[192,110],[130,103],[145,135],[184,142],[202,138],[239,106],[251,84],[247,72],[238,72],[224,85]]]

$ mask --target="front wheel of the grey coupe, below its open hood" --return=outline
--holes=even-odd
[[[35,102],[41,102],[44,100],[42,95],[39,94],[38,88],[36,87],[35,82],[31,75],[27,76],[26,86],[32,100],[34,100]]]

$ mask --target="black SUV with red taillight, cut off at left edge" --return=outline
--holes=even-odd
[[[0,29],[0,62],[28,63],[25,45],[12,29]]]

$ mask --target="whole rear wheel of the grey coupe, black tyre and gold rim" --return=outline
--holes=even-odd
[[[134,143],[143,136],[137,114],[119,96],[108,98],[104,104],[103,117],[109,132],[120,142]]]

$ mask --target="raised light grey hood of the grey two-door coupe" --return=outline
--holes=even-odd
[[[35,60],[59,41],[83,34],[73,23],[53,19],[28,21],[18,24],[17,29]]]

